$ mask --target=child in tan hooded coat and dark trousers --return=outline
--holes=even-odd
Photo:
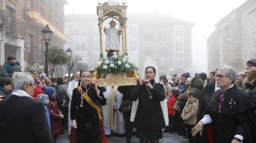
[[[186,128],[189,134],[189,143],[191,143],[192,140],[191,129],[197,122],[197,110],[199,101],[195,98],[196,96],[197,95],[195,91],[188,92],[188,101],[181,114],[181,118],[184,121],[184,124],[186,124]]]

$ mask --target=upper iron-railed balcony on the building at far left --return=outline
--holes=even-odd
[[[16,16],[5,17],[4,28],[6,34],[11,35],[15,38],[24,38],[27,35],[26,22]]]

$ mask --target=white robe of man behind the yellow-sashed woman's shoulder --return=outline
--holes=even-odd
[[[68,98],[69,98],[69,104],[68,104],[68,134],[70,134],[71,126],[72,126],[72,122],[71,122],[71,118],[70,118],[71,99],[72,99],[73,89],[77,88],[77,86],[78,86],[78,81],[76,81],[75,79],[68,83]]]

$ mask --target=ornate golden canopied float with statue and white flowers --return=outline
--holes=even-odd
[[[100,87],[106,86],[124,86],[136,85],[138,77],[136,66],[134,63],[129,62],[127,51],[127,38],[126,38],[126,9],[127,5],[123,2],[120,5],[116,0],[107,0],[106,2],[98,3],[98,27],[100,32],[100,61],[95,67],[93,80],[98,82]],[[102,24],[107,19],[110,21],[111,28],[103,29],[106,33],[106,52],[107,56],[103,55],[102,46]],[[115,23],[115,24],[114,24]],[[115,28],[116,23],[119,23],[119,30]],[[120,50],[120,35],[122,37],[122,53]]]

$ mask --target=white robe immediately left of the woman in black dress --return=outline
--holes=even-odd
[[[116,93],[116,108],[117,108],[117,124],[118,124],[117,133],[118,134],[125,133],[124,116],[123,116],[122,112],[118,111],[119,107],[121,106],[122,101],[123,101],[123,94],[117,91],[117,93]]]

